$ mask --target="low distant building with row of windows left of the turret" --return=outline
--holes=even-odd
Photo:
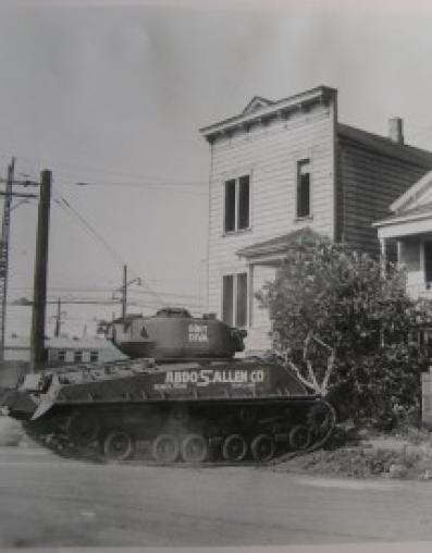
[[[104,339],[50,337],[46,340],[45,346],[50,366],[126,359],[125,355]]]

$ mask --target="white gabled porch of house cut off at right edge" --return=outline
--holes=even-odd
[[[397,261],[407,271],[407,292],[414,299],[432,299],[432,171],[391,206],[392,216],[378,221],[381,249],[397,245]]]

